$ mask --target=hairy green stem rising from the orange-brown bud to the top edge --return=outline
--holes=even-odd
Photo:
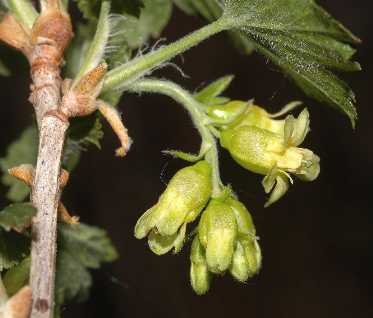
[[[98,63],[102,60],[104,50],[106,47],[107,39],[109,38],[109,10],[110,2],[108,0],[103,1],[101,4],[100,19],[98,20],[96,32],[88,50],[85,60],[79,69],[72,85],[76,84],[79,78],[84,74],[93,70]]]

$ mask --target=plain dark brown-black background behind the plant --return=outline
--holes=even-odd
[[[190,244],[179,255],[154,255],[147,241],[134,238],[134,225],[157,202],[166,182],[186,166],[161,150],[197,152],[200,138],[185,110],[165,96],[125,94],[118,106],[134,139],[125,158],[104,122],[102,150],[90,147],[70,175],[64,194],[68,210],[81,221],[105,228],[120,258],[93,271],[90,300],[67,303],[62,317],[372,317],[372,5],[370,1],[317,1],[363,40],[354,56],[363,71],[338,74],[354,90],[359,119],[307,98],[283,72],[254,52],[241,57],[223,34],[214,35],[175,61],[190,76],[157,71],[194,91],[223,75],[235,74],[225,95],[255,98],[269,112],[303,100],[311,132],[303,147],[321,158],[321,173],[310,183],[295,180],[286,195],[264,209],[263,176],[237,165],[220,151],[224,183],[231,183],[247,206],[260,236],[262,268],[247,284],[231,275],[215,277],[209,293],[197,296],[189,283]],[[74,6],[74,4],[72,4]],[[202,27],[198,17],[173,11],[167,41]],[[1,78],[0,156],[31,122],[28,74]],[[5,97],[5,98],[4,98]],[[302,110],[299,107],[295,115]],[[7,189],[0,185],[1,207]],[[193,225],[189,226],[189,229]],[[113,283],[112,277],[118,282]]]

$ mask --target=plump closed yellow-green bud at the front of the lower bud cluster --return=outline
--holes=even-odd
[[[210,271],[219,274],[228,269],[237,241],[237,221],[233,210],[212,199],[201,215],[198,235],[206,249]]]

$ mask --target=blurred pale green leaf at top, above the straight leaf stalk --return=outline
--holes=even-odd
[[[123,29],[126,30],[123,37],[132,50],[141,43],[146,43],[151,36],[158,38],[172,13],[171,0],[145,1],[144,4],[140,18],[124,15],[127,19],[122,22]]]

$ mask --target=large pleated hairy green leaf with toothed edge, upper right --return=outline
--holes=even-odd
[[[350,60],[357,37],[312,0],[221,1],[227,28],[250,35],[306,94],[344,112],[355,125],[354,93],[328,69],[360,70]]]

